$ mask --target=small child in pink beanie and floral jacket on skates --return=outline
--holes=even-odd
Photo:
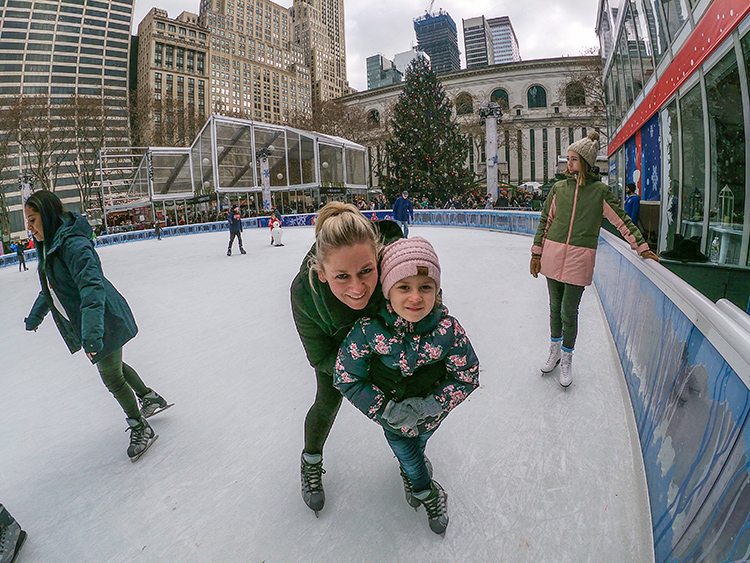
[[[424,505],[430,529],[445,536],[448,495],[424,455],[443,419],[479,385],[479,360],[440,295],[440,262],[422,237],[383,251],[387,302],[363,317],[344,340],[334,385],[383,427],[401,466],[406,501]]]

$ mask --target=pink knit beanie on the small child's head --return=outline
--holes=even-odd
[[[380,283],[386,299],[399,280],[418,274],[431,277],[440,290],[440,261],[429,242],[422,237],[400,238],[385,247],[380,261]]]

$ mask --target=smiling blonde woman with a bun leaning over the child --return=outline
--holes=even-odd
[[[302,498],[316,516],[325,504],[323,445],[342,399],[333,386],[339,346],[360,317],[383,305],[380,251],[402,236],[392,221],[371,222],[352,204],[328,203],[316,217],[315,244],[292,282],[294,322],[317,378],[300,462]]]

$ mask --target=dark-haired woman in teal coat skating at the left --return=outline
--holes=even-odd
[[[39,293],[25,319],[36,330],[47,313],[73,354],[83,348],[127,416],[128,456],[136,461],[156,439],[146,418],[171,406],[122,361],[122,347],[138,332],[125,298],[104,277],[88,222],[65,210],[52,192],[34,193],[24,207],[37,243]],[[138,400],[140,401],[140,406]]]

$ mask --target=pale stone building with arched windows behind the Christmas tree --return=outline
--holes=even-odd
[[[471,138],[466,166],[481,178],[487,175],[485,132],[477,111],[486,102],[503,108],[498,124],[499,180],[511,184],[544,183],[558,172],[558,159],[567,156],[573,141],[591,129],[600,131],[606,146],[606,118],[601,102],[581,97],[576,77],[590,72],[598,57],[564,57],[479,67],[441,75],[446,95],[454,105],[461,131]],[[594,72],[600,72],[600,67]],[[342,98],[368,116],[371,128],[360,141],[368,149],[368,185],[378,185],[386,166],[387,122],[403,85],[386,86]],[[606,174],[604,149],[598,162]]]

